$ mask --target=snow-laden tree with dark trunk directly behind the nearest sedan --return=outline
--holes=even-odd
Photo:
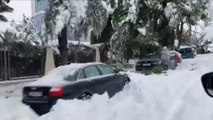
[[[87,0],[50,0],[46,11],[46,42],[58,37],[61,64],[67,64],[67,27],[78,30],[85,22]],[[80,30],[78,30],[80,31]],[[84,34],[80,34],[83,36]]]

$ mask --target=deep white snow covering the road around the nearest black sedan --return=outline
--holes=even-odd
[[[113,98],[104,94],[89,101],[59,100],[41,117],[21,103],[23,85],[0,88],[0,120],[212,120],[213,99],[200,81],[213,71],[212,60],[213,54],[198,55],[162,75],[129,72],[132,82]]]

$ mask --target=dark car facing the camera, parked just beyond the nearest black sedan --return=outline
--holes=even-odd
[[[152,70],[154,67],[161,66],[165,70],[174,70],[177,63],[167,52],[161,52],[159,54],[147,55],[136,63],[136,71]]]

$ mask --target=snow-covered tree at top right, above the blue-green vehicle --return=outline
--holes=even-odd
[[[169,25],[176,31],[176,37],[183,43],[184,25],[189,28],[191,36],[191,27],[198,21],[207,19],[209,0],[180,0],[171,1],[166,4],[165,15],[169,19]]]

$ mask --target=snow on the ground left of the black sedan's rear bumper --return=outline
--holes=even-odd
[[[26,84],[0,87],[0,120],[37,119],[38,116],[28,106],[21,103],[22,87]]]

